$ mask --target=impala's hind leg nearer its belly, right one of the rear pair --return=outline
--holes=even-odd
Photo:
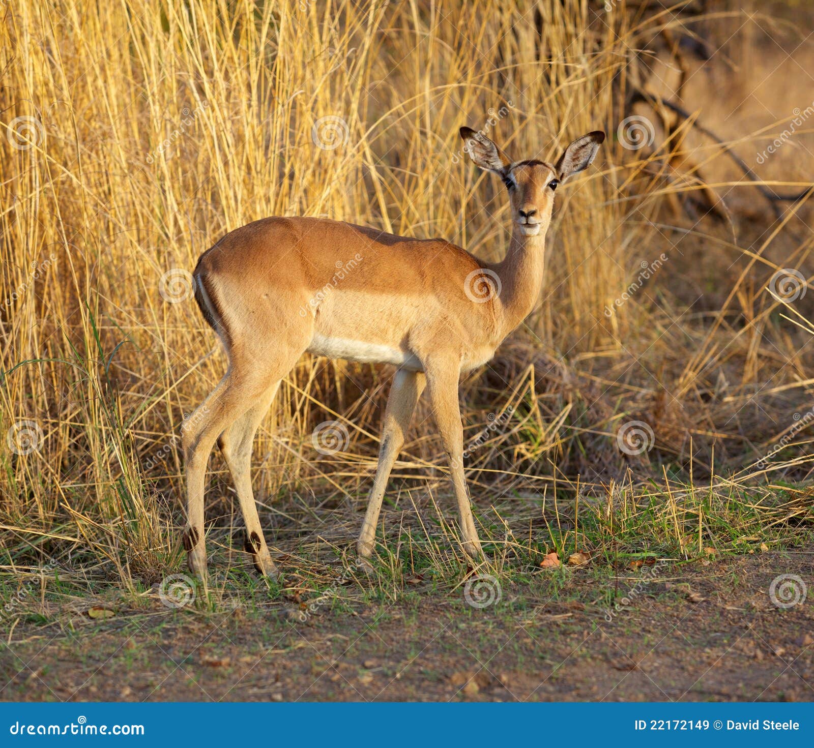
[[[263,575],[276,577],[277,566],[271,560],[269,547],[265,543],[263,527],[257,514],[257,505],[252,493],[252,443],[265,413],[274,400],[280,387],[280,380],[274,383],[260,396],[254,405],[243,413],[229,428],[218,437],[217,445],[229,466],[234,488],[238,493],[240,511],[246,526],[246,537],[243,543],[245,550],[252,557],[257,571]]]

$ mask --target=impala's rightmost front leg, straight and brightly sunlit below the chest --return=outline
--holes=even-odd
[[[437,365],[427,365],[427,383],[430,389],[432,409],[435,413],[435,423],[440,431],[444,451],[447,453],[458,514],[461,518],[463,549],[471,558],[477,559],[480,558],[482,552],[464,478],[463,424],[461,408],[458,405],[459,377],[460,371],[457,366],[453,367],[441,362]]]

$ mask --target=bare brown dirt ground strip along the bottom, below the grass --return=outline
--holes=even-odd
[[[781,574],[811,587],[814,556],[663,564],[638,587],[641,571],[544,570],[505,581],[484,608],[419,581],[395,602],[327,604],[304,622],[291,599],[211,612],[148,596],[147,610],[104,620],[85,601],[6,634],[0,698],[808,701],[814,606],[775,605]],[[608,610],[610,588],[629,604]]]

